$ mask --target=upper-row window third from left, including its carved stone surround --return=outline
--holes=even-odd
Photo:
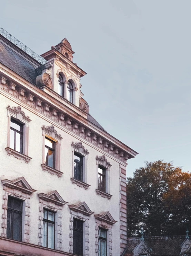
[[[84,148],[82,142],[72,142],[72,184],[77,184],[80,187],[88,189],[87,184],[87,161],[88,150]]]

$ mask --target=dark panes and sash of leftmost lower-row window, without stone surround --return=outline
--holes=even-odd
[[[22,240],[22,201],[8,196],[7,237]]]

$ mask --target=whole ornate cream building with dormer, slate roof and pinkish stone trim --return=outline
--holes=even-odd
[[[66,38],[41,56],[0,28],[0,255],[119,256],[137,152],[89,114]]]

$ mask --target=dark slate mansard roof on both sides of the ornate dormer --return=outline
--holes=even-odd
[[[0,41],[0,62],[11,69],[12,71],[19,74],[27,81],[36,85],[36,77],[40,74],[40,71],[44,68],[41,65],[39,68],[36,67],[24,59],[20,54],[13,51],[9,46]],[[88,121],[104,130],[103,127],[93,118],[88,116]],[[105,130],[104,130],[105,131]]]

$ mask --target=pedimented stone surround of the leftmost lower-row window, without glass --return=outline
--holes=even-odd
[[[3,185],[3,214],[2,214],[2,237],[7,237],[7,203],[8,196],[18,198],[23,201],[22,205],[22,241],[30,242],[30,195],[36,190],[32,189],[24,177],[14,180],[1,180]]]

